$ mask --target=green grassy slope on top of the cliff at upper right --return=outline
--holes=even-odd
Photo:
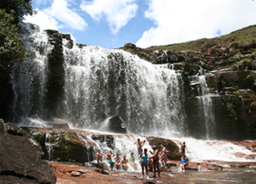
[[[151,50],[200,50],[202,48],[217,48],[224,44],[229,45],[237,42],[239,45],[246,45],[247,42],[256,40],[256,25],[250,25],[241,28],[235,32],[223,35],[222,37],[214,37],[211,39],[203,38],[191,42],[183,42],[168,46],[151,46]]]

